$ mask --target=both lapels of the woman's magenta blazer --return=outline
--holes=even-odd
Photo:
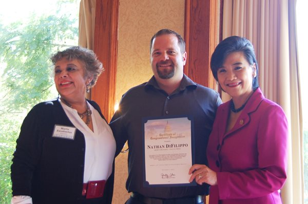
[[[243,109],[242,113],[240,114],[239,118],[237,119],[234,127],[227,132],[226,134],[222,134],[223,137],[222,139],[224,139],[225,137],[227,137],[228,135],[234,133],[235,131],[238,131],[240,129],[242,129],[243,127],[247,126],[249,124],[249,121],[251,120],[251,117],[249,116],[249,114],[251,114],[252,112],[255,112],[258,109],[258,106],[260,105],[261,101],[264,99],[264,96],[260,90],[260,88],[258,88],[253,95],[251,96],[251,98],[249,98],[249,100],[247,101],[247,104],[245,106],[245,108]],[[225,110],[225,118],[223,121],[225,121],[225,124],[223,124],[224,126],[224,132],[226,130],[227,127],[227,121],[228,121],[228,115],[229,115],[229,110],[230,110],[230,101],[228,101],[228,106],[226,106],[226,110]]]

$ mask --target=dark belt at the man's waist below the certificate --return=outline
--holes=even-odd
[[[180,197],[180,198],[152,198],[146,197],[139,193],[132,192],[131,197],[145,204],[187,204],[187,203],[203,203],[203,196],[189,196],[189,197]]]

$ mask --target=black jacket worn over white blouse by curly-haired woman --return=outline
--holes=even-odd
[[[88,101],[104,118],[98,104]],[[84,136],[76,129],[73,140],[52,137],[56,124],[73,127],[59,100],[35,105],[24,119],[12,159],[13,196],[29,195],[33,204],[85,203],[82,196]],[[87,203],[111,203],[113,180],[114,160],[104,197],[88,199]]]

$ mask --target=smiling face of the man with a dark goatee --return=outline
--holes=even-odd
[[[163,34],[153,39],[151,67],[157,80],[182,79],[186,52],[181,53],[178,38],[173,34]]]

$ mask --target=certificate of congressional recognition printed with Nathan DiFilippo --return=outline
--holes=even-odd
[[[192,186],[192,120],[189,116],[145,118],[144,186]]]

